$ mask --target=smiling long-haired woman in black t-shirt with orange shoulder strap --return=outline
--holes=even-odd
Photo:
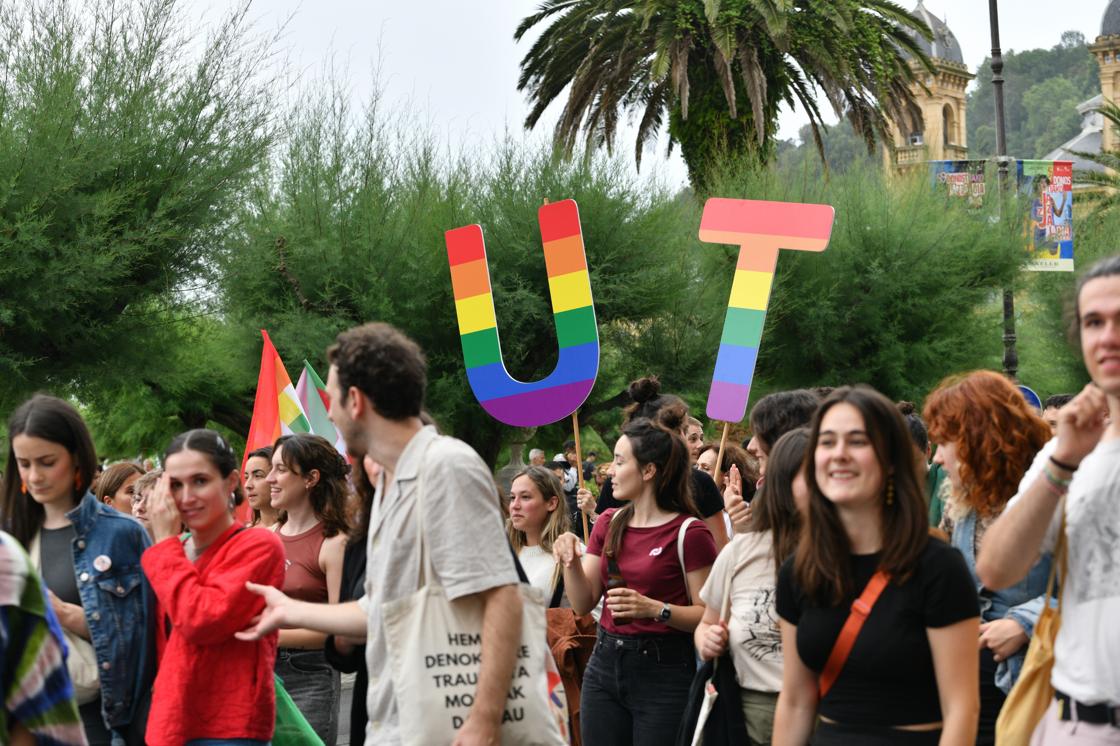
[[[834,390],[805,469],[808,523],[777,584],[774,744],[972,744],[979,605],[961,553],[928,534],[898,409],[871,389]]]

